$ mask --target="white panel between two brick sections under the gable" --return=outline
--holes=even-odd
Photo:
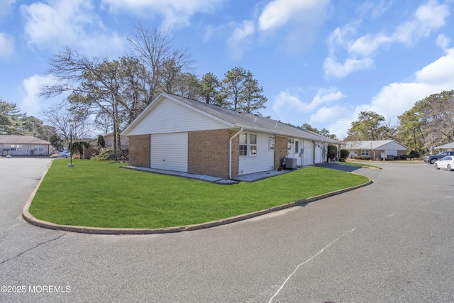
[[[187,172],[187,133],[151,135],[150,167]]]

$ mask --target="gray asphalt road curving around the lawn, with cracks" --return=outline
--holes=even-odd
[[[453,302],[454,172],[355,167],[374,183],[306,206],[99,236],[20,218],[49,163],[0,159],[0,302]]]

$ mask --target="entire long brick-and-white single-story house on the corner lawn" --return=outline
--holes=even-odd
[[[317,133],[254,114],[160,94],[129,125],[129,164],[235,178],[275,170],[283,158],[297,166],[326,162],[328,144]]]

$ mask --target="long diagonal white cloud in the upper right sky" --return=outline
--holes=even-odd
[[[353,39],[356,28],[360,25],[359,22],[348,23],[336,28],[327,39],[329,55],[323,65],[325,75],[346,77],[352,72],[370,68],[373,64],[372,57],[378,54],[380,48],[391,43],[402,43],[411,47],[421,38],[428,37],[445,25],[445,19],[449,15],[449,7],[446,4],[438,4],[435,0],[429,0],[416,9],[414,16],[409,21],[400,23],[394,33],[390,35],[382,31],[375,35],[367,34]],[[445,43],[445,41],[438,40],[438,43]],[[336,58],[338,48],[347,50],[348,57],[344,63],[339,63]]]

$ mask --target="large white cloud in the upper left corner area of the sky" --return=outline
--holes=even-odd
[[[92,55],[118,55],[123,50],[118,35],[104,28],[92,1],[62,0],[21,6],[28,44],[40,50],[70,46]]]

